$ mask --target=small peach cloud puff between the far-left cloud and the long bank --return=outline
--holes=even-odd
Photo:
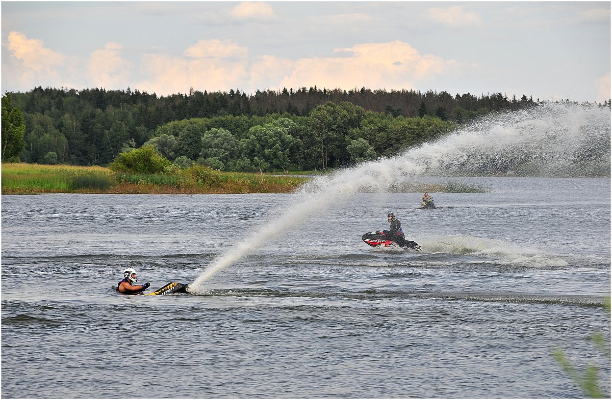
[[[109,42],[97,49],[89,57],[87,71],[89,78],[97,87],[119,89],[128,87],[130,69],[133,64],[121,58],[123,46]]]

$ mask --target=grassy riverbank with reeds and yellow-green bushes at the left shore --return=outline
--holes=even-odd
[[[105,167],[2,163],[2,194],[293,193],[310,178],[222,172],[196,166],[162,174],[116,173]]]

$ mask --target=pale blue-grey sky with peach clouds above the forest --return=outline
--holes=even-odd
[[[501,92],[610,99],[610,1],[2,1],[2,93]]]

